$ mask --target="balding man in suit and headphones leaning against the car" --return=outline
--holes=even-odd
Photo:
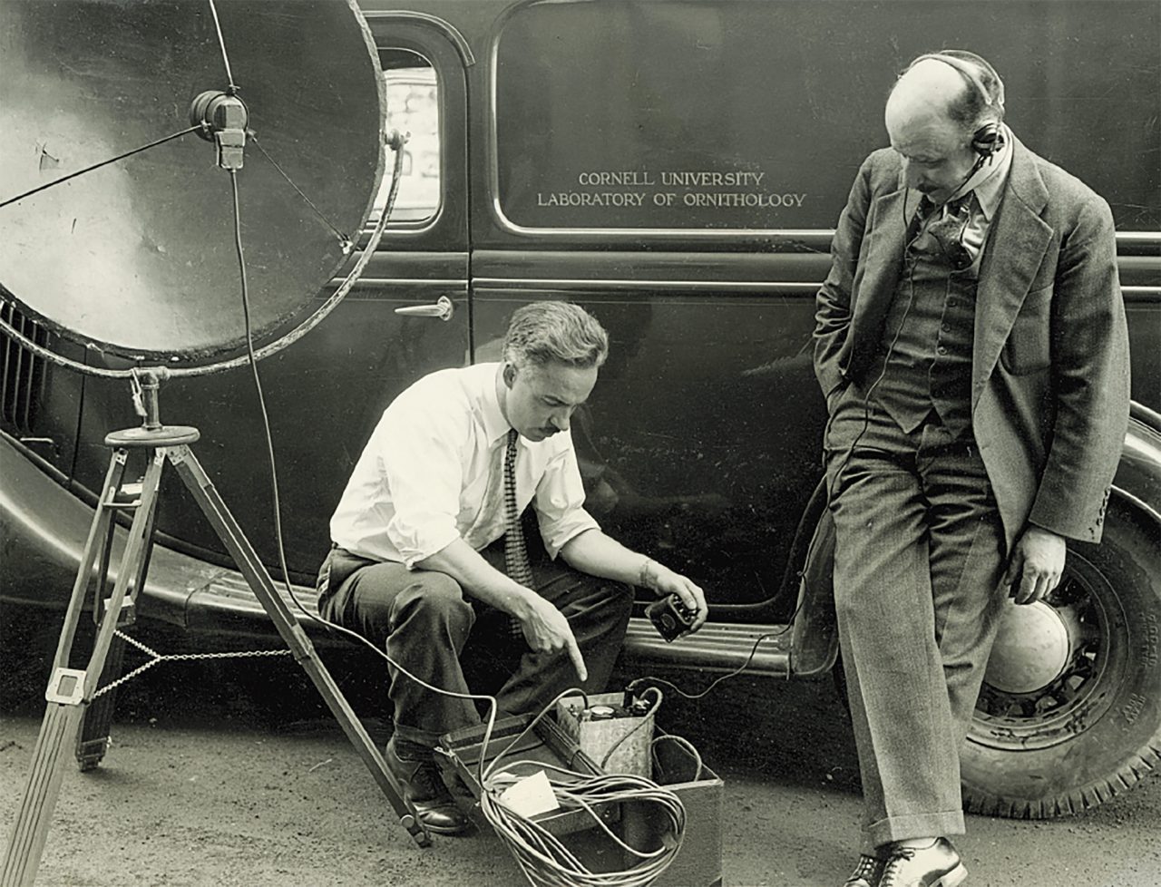
[[[819,291],[835,598],[863,779],[846,887],[967,877],[960,743],[1007,596],[1098,541],[1128,413],[1108,204],[1024,147],[979,56],[920,56]],[[1007,592],[1007,594],[1005,594]]]

